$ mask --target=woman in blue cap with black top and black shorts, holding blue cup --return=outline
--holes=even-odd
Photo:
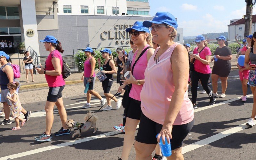
[[[214,57],[212,58],[212,61],[214,60],[212,68],[212,90],[213,96],[217,97],[217,81],[220,78],[222,88],[220,98],[224,98],[226,97],[225,92],[228,87],[228,75],[231,70],[231,63],[229,60],[232,59],[232,52],[229,47],[225,45],[225,36],[219,36],[218,38],[216,38],[216,40],[218,41],[219,47],[216,48],[214,52]]]

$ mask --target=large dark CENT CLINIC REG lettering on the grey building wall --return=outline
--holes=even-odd
[[[100,34],[102,39],[116,40],[116,44],[129,44],[130,37],[129,33],[125,31],[126,28],[131,28],[132,24],[117,24],[114,26],[114,30],[103,31]]]

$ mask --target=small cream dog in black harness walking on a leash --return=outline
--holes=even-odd
[[[73,129],[75,133],[72,135],[72,138],[75,137],[75,135],[79,134],[78,137],[81,137],[81,132],[88,131],[91,127],[94,128],[95,133],[97,131],[97,120],[99,119],[97,116],[92,116],[93,112],[88,111],[87,114],[84,116],[84,125],[74,121],[73,119],[68,119],[66,122],[66,126],[68,129]],[[90,118],[92,116],[92,118]],[[90,118],[90,119],[89,119]],[[86,122],[89,119],[88,122]]]

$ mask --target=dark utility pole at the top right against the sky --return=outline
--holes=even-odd
[[[252,34],[252,0],[245,0],[246,2],[246,13],[244,15],[245,28],[244,37]]]

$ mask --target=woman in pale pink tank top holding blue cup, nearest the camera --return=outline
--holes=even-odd
[[[160,137],[171,140],[172,155],[183,159],[182,143],[194,125],[194,111],[188,98],[188,52],[173,42],[177,21],[168,12],[157,12],[149,27],[153,42],[159,44],[148,60],[145,83],[140,93],[141,118],[136,136],[136,159],[150,159]],[[156,135],[159,135],[156,138]],[[167,143],[167,142],[165,142]]]

